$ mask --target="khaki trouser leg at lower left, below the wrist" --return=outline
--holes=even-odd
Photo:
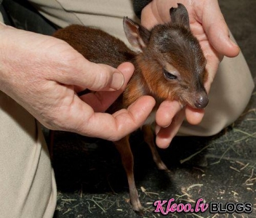
[[[57,190],[40,124],[0,91],[0,217],[52,217]]]

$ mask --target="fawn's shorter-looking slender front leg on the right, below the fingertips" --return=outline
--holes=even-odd
[[[153,161],[155,161],[156,166],[158,169],[169,171],[167,166],[165,166],[164,162],[161,161],[161,158],[159,156],[158,151],[156,150],[156,145],[153,138],[153,132],[151,130],[150,125],[144,125],[142,127],[143,134],[144,134],[144,140],[149,145],[149,148],[151,148],[151,153],[153,156]]]

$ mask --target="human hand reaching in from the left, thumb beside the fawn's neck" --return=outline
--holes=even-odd
[[[95,64],[64,41],[5,25],[0,47],[1,91],[49,129],[119,140],[141,126],[155,105],[142,97],[127,110],[103,113],[132,76],[128,62],[117,69]],[[78,97],[81,89],[100,92]]]

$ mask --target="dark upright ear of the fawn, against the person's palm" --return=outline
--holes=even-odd
[[[172,23],[184,25],[185,28],[190,30],[188,11],[183,4],[178,3],[177,8],[169,9],[169,15],[171,15]]]

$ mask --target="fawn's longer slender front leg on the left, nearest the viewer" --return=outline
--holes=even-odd
[[[127,173],[127,179],[129,184],[129,197],[132,203],[132,209],[139,213],[143,212],[143,206],[141,206],[139,195],[135,186],[135,178],[133,174],[133,155],[132,150],[129,146],[129,135],[122,138],[121,140],[114,142],[117,150],[121,155],[121,161],[124,169]]]

